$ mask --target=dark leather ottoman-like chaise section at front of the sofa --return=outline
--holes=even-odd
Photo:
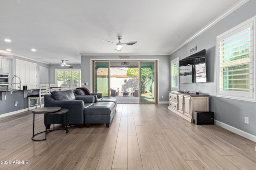
[[[109,127],[115,111],[114,102],[96,102],[84,109],[84,123],[86,127],[90,127],[91,123],[106,123],[106,127]]]

